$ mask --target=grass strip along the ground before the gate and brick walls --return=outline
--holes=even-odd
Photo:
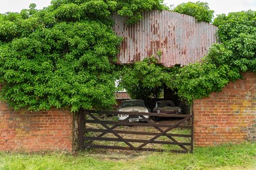
[[[195,148],[194,153],[93,150],[65,153],[0,153],[0,169],[256,169],[256,143]]]

